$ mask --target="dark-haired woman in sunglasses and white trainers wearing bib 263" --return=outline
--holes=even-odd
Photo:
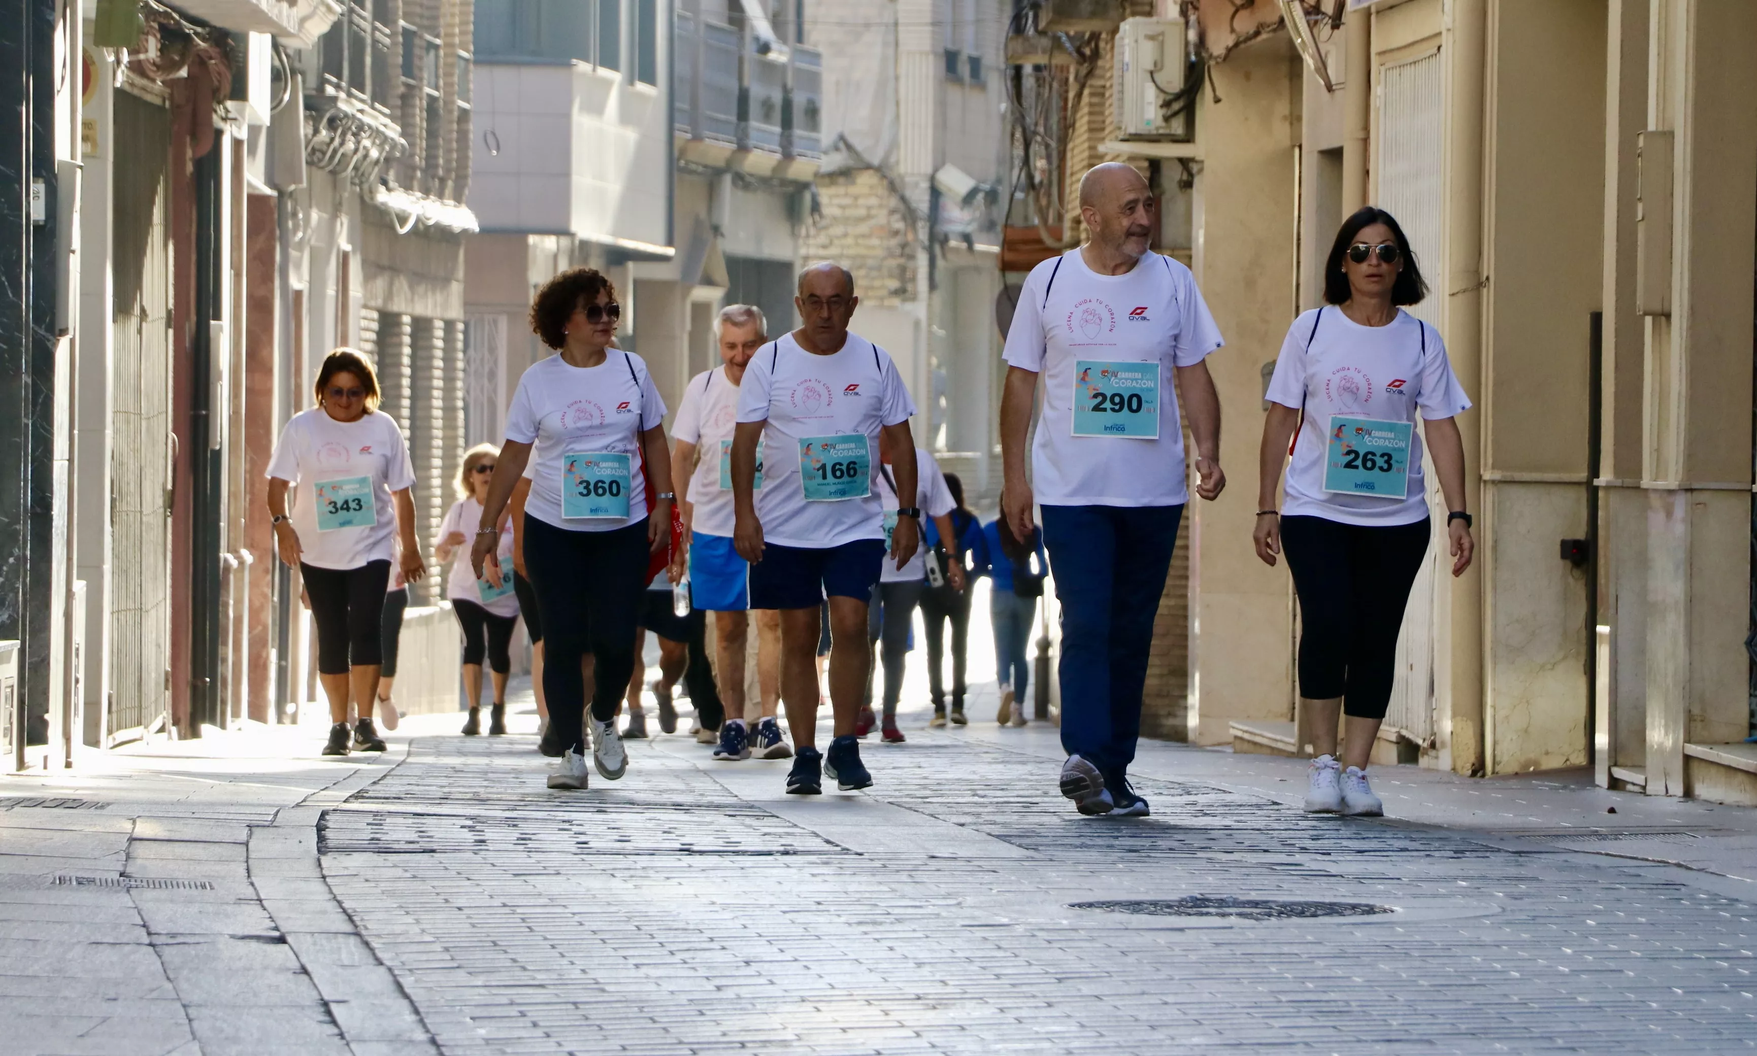
[[[1293,322],[1269,381],[1254,541],[1270,566],[1286,548],[1300,597],[1300,708],[1314,756],[1305,810],[1379,815],[1367,763],[1432,534],[1416,411],[1458,576],[1476,550],[1457,423],[1471,399],[1439,332],[1400,307],[1427,283],[1390,213],[1367,206],[1342,221],[1323,274],[1327,304]]]

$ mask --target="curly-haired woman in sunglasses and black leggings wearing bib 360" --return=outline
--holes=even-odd
[[[587,654],[594,657],[592,763],[608,780],[627,768],[617,703],[634,671],[648,559],[671,541],[666,408],[641,357],[611,348],[620,316],[610,279],[589,267],[538,290],[531,329],[557,355],[518,380],[471,548],[476,575],[511,583],[511,568],[497,559],[501,511],[531,464],[522,546],[543,618],[548,736],[562,749],[560,770],[548,777],[552,789],[587,784],[580,668]]]

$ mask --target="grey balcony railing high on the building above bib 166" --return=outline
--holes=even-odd
[[[676,14],[673,121],[691,139],[815,158],[822,149],[822,56],[792,46],[757,51],[748,33]]]

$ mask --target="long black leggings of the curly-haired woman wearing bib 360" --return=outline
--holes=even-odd
[[[525,517],[525,569],[543,613],[543,696],[564,749],[585,754],[585,675],[596,659],[592,717],[610,722],[634,673],[634,617],[647,592],[647,518],[573,532]]]

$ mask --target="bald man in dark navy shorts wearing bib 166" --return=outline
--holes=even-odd
[[[915,404],[882,348],[849,334],[859,306],[854,276],[835,264],[799,272],[794,299],[805,323],[757,350],[738,390],[733,436],[733,541],[750,562],[750,606],[780,610],[782,701],[794,759],[787,791],[817,794],[822,771],[864,789],[854,736],[871,652],[866,604],[886,561],[884,510],[873,476],[878,438],[910,452]],[[757,443],[763,488],[756,488]],[[901,568],[921,541],[915,466],[896,466],[898,515],[891,561]],[[829,703],[835,740],[817,750],[819,604],[829,599]]]

